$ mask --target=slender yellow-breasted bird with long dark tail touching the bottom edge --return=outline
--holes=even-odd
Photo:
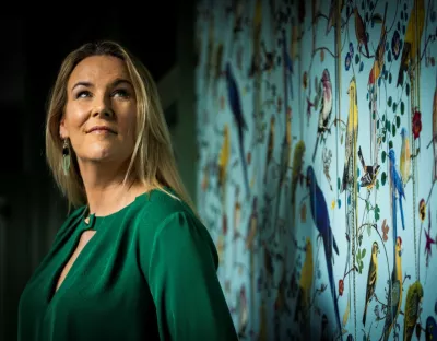
[[[391,272],[391,285],[389,285],[388,303],[387,303],[387,314],[386,321],[383,326],[383,340],[389,339],[391,329],[398,318],[399,311],[402,304],[402,239],[397,237],[395,239],[395,256],[393,262],[393,270]]]

